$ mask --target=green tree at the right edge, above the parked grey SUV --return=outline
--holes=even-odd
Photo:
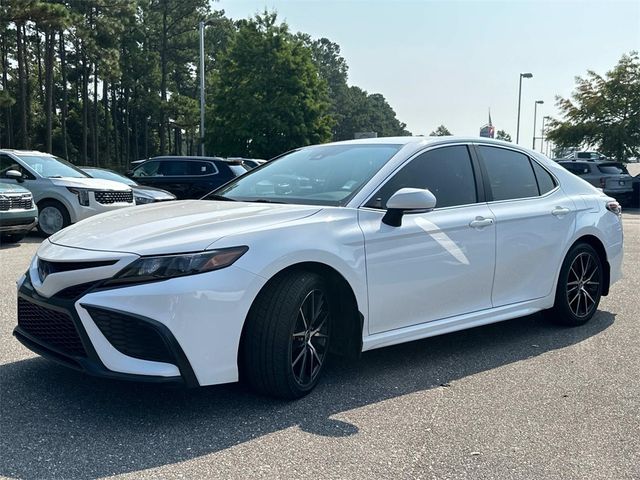
[[[594,146],[623,161],[640,153],[640,57],[623,55],[604,76],[589,70],[576,78],[571,99],[557,97],[563,120],[552,120],[547,138],[557,147]]]

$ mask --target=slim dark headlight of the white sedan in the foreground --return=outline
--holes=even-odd
[[[238,260],[249,247],[222,248],[200,253],[140,257],[103,285],[144,283],[211,272],[228,267]]]

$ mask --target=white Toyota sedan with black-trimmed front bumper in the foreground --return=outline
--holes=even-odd
[[[400,137],[289,152],[204,200],[45,240],[16,337],[91,374],[297,398],[329,353],[546,311],[580,325],[621,276],[614,199],[540,154]]]

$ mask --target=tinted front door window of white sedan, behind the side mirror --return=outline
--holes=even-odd
[[[367,206],[386,208],[387,200],[401,188],[428,188],[438,208],[475,203],[476,184],[467,147],[438,148],[414,158],[378,190]]]

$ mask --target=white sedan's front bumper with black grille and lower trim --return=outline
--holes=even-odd
[[[41,281],[38,258],[102,266],[57,271]],[[136,258],[45,240],[18,282],[18,306],[54,312],[36,312],[36,320],[47,317],[39,328],[49,328],[58,314],[64,315],[72,333],[77,332],[80,354],[60,348],[66,344],[60,345],[57,338],[34,335],[21,321],[28,320],[24,311],[18,315],[16,337],[43,356],[93,375],[187,385],[237,381],[244,319],[265,279],[232,265],[153,283],[102,286]],[[104,265],[105,260],[111,261]],[[152,338],[155,347],[143,338]]]

